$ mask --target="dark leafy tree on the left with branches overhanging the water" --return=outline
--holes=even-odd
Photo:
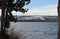
[[[10,28],[10,21],[16,22],[16,18],[12,15],[12,11],[20,11],[22,13],[27,12],[28,9],[24,9],[25,5],[30,3],[30,0],[0,0],[0,8],[2,9],[1,16],[1,39],[9,39],[8,34],[6,34],[7,30]]]

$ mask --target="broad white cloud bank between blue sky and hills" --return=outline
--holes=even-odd
[[[1,10],[0,10],[1,12]],[[31,8],[28,10],[26,14],[22,14],[21,12],[12,12],[13,15],[54,15],[57,16],[57,5],[46,5],[42,7]]]

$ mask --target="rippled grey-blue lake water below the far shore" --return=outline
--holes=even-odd
[[[11,22],[13,28],[26,39],[57,39],[57,22]]]

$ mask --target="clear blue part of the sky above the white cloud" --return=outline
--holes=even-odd
[[[57,0],[31,0],[30,4],[27,7],[34,8],[47,5],[54,5],[57,4],[57,2]]]

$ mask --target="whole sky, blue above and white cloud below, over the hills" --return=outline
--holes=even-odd
[[[21,12],[13,11],[13,15],[54,15],[57,16],[58,0],[31,0],[29,5],[24,8],[28,8],[28,12],[22,14]]]

